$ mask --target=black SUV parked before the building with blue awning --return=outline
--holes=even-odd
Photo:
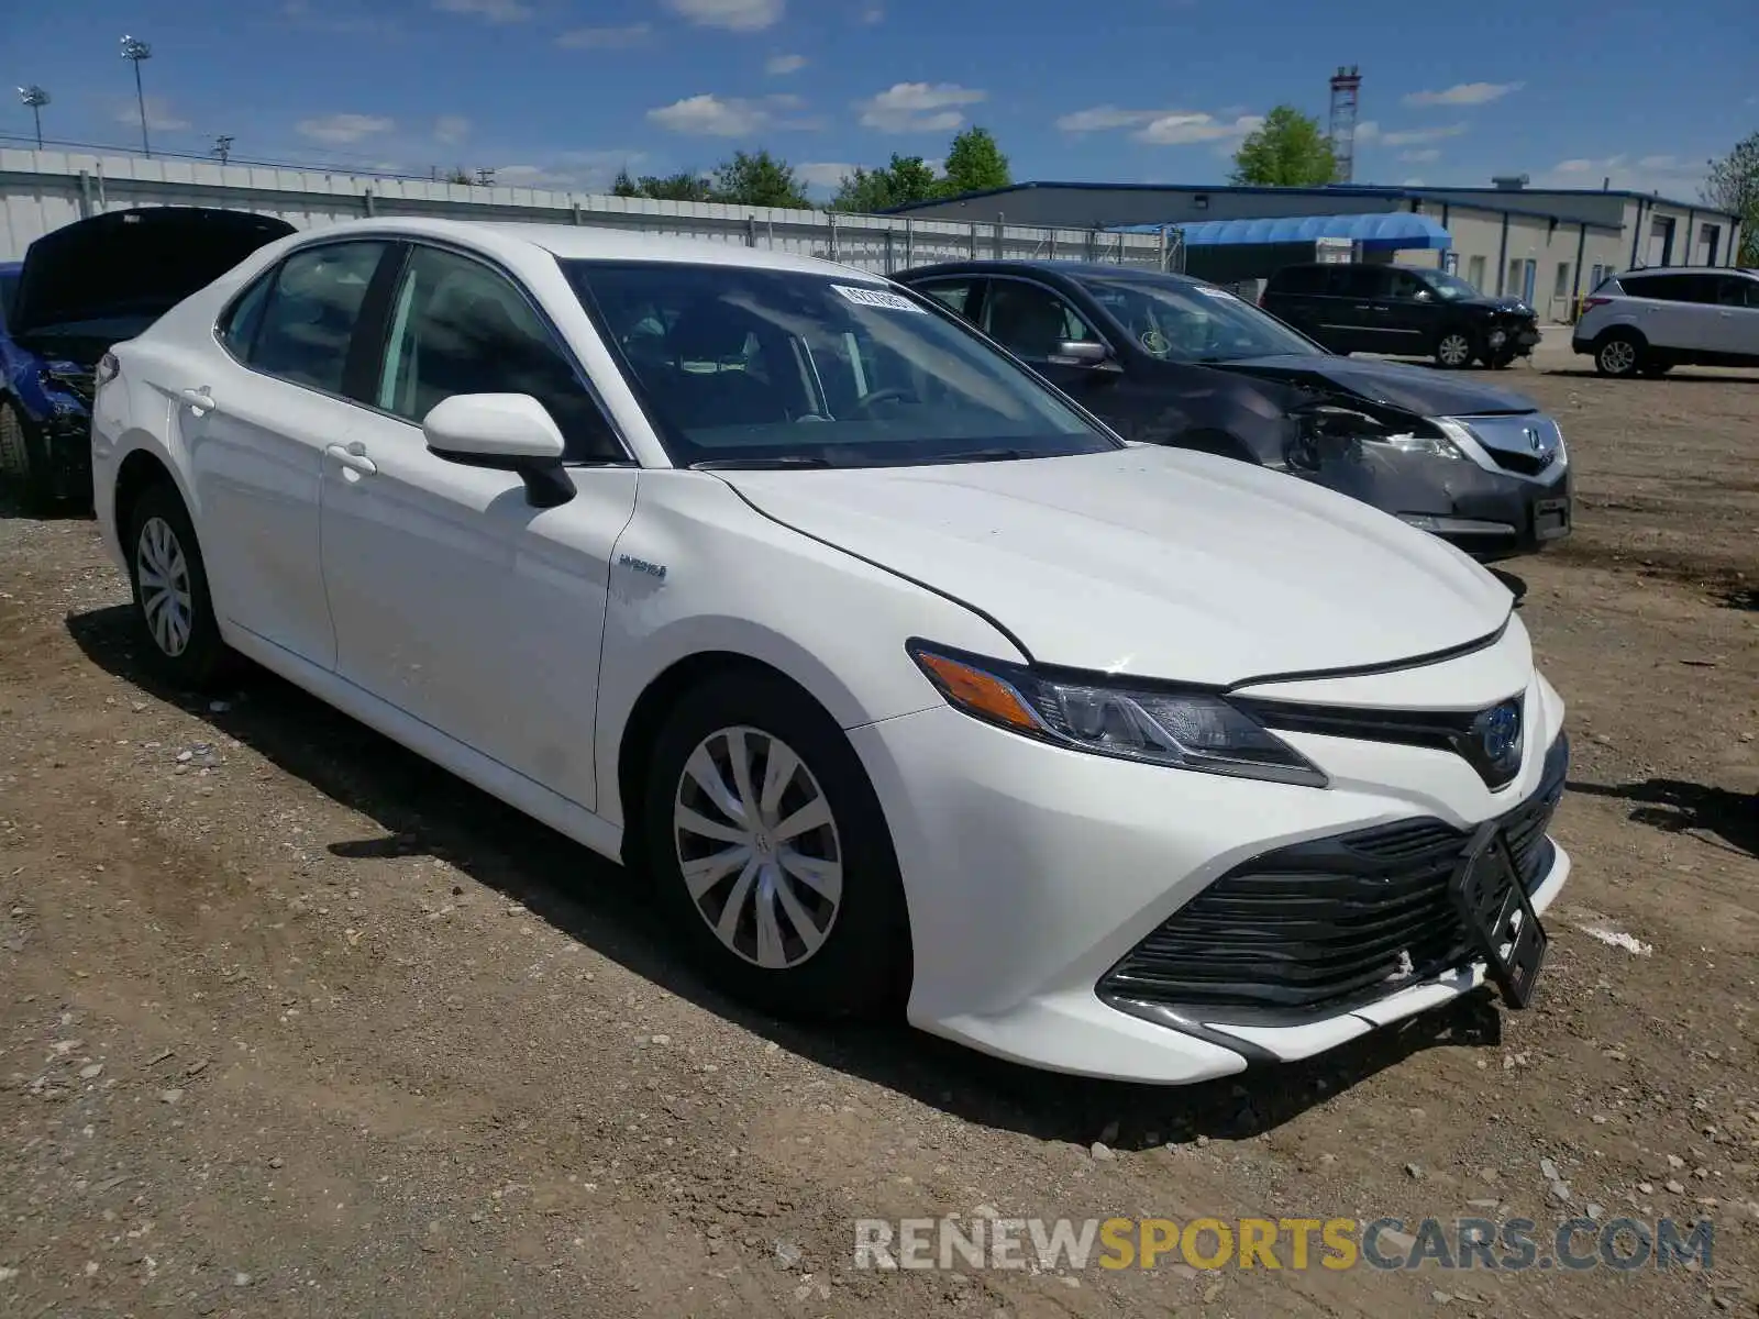
[[[1332,352],[1434,357],[1448,369],[1500,369],[1539,343],[1539,317],[1518,297],[1409,266],[1284,266],[1258,304]]]

